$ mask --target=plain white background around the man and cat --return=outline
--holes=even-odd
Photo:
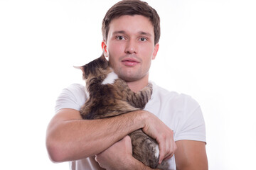
[[[84,82],[101,55],[101,22],[117,1],[0,0],[1,169],[68,169],[45,147],[55,99]],[[161,17],[150,79],[195,98],[209,169],[253,169],[256,152],[256,6],[249,0],[148,1]]]

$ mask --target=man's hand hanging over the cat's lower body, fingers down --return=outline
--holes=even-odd
[[[156,139],[156,142],[159,143],[159,164],[161,164],[163,159],[169,159],[174,156],[174,152],[177,149],[174,142],[174,132],[155,115],[147,115],[149,118],[146,119],[144,128],[142,128],[142,130],[147,135]]]

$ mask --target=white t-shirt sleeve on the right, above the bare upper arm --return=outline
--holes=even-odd
[[[206,142],[206,125],[199,104],[189,97],[186,100],[183,119],[175,140],[196,140]]]

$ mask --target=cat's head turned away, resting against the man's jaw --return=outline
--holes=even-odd
[[[109,73],[109,62],[104,55],[89,62],[83,66],[75,67],[82,70],[82,79],[92,79],[92,77],[101,77]]]

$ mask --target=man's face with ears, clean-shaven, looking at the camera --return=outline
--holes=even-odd
[[[156,57],[159,44],[154,45],[154,27],[149,18],[135,15],[112,20],[102,48],[119,78],[148,81],[151,60]]]

